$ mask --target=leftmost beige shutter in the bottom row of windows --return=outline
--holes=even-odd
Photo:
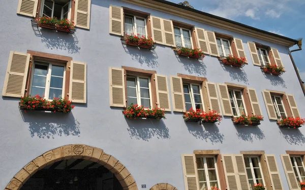
[[[194,154],[182,154],[181,157],[186,190],[198,190],[199,180],[196,156]]]

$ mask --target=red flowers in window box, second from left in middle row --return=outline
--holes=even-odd
[[[148,109],[143,105],[134,105],[131,103],[126,110],[123,111],[123,114],[127,118],[155,118],[157,120],[163,118],[166,119],[164,116],[165,110],[163,108],[154,108]]]

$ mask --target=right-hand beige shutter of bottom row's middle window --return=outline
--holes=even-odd
[[[265,155],[266,164],[273,190],[283,190],[282,180],[275,155]]]

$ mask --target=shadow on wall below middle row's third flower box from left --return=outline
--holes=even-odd
[[[219,132],[217,124],[204,123],[204,129],[198,122],[186,122],[189,132],[197,139],[214,143],[223,143],[224,135]]]

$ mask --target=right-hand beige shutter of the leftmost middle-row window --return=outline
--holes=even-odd
[[[87,64],[71,61],[69,100],[74,103],[87,101]]]

